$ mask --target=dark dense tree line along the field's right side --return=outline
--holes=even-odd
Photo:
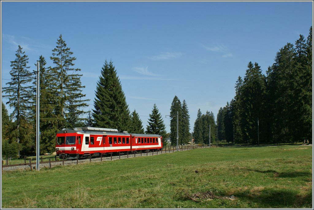
[[[266,75],[249,62],[236,95],[217,114],[218,136],[233,143],[312,143],[312,27],[276,54]]]

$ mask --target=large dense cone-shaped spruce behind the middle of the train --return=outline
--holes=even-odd
[[[95,127],[127,131],[130,128],[130,111],[125,99],[119,77],[112,61],[101,69],[97,82],[93,118]]]

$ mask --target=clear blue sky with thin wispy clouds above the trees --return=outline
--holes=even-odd
[[[30,70],[49,59],[62,34],[83,74],[94,108],[96,82],[112,60],[130,112],[146,129],[156,103],[170,132],[170,106],[185,99],[191,131],[197,111],[212,111],[235,96],[248,62],[265,74],[276,52],[312,25],[312,2],[1,2],[2,87],[11,79],[18,45]],[[3,99],[4,102],[7,99]],[[10,109],[9,113],[11,112]]]

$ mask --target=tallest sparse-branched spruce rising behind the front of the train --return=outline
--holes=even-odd
[[[82,94],[85,86],[81,85],[80,77],[82,74],[78,74],[81,69],[72,68],[74,66],[73,61],[76,60],[72,54],[73,52],[67,47],[60,34],[59,39],[57,39],[57,46],[52,50],[50,57],[55,64],[55,67],[52,68],[52,77],[56,81],[54,92],[57,102],[55,114],[58,118],[58,129],[76,126],[75,123],[82,120],[80,116],[86,113],[82,108],[87,107],[86,102],[89,101],[89,99],[83,99],[86,96]]]

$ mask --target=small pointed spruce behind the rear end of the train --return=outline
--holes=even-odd
[[[161,136],[166,134],[165,123],[162,120],[161,114],[159,113],[156,104],[154,104],[152,113],[149,114],[149,119],[147,122],[148,125],[145,131],[146,134],[158,134]]]

